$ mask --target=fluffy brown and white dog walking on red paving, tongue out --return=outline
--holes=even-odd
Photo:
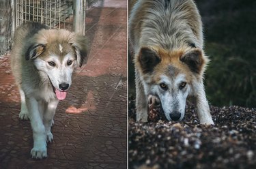
[[[72,72],[87,60],[84,36],[64,29],[48,29],[37,22],[20,25],[14,33],[12,73],[21,99],[19,118],[30,119],[35,159],[47,157],[53,141],[51,126],[59,100],[65,99]]]

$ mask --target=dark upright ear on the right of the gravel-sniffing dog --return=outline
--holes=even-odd
[[[203,65],[205,65],[205,59],[203,59],[203,53],[198,48],[190,50],[189,52],[184,54],[182,57],[180,57],[180,61],[188,65],[190,70],[197,74],[201,73],[201,70],[203,69]]]

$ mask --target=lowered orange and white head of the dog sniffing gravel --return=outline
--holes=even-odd
[[[182,120],[186,98],[195,94],[203,78],[207,61],[203,52],[189,47],[172,52],[158,47],[142,47],[136,58],[145,94],[159,97],[169,121]]]

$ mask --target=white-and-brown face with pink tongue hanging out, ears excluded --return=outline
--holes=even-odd
[[[67,44],[56,43],[44,48],[44,53],[34,59],[35,66],[47,74],[57,98],[65,99],[66,91],[72,83],[76,54]]]

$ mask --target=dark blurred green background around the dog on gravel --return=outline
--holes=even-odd
[[[256,107],[256,1],[196,0],[202,16],[205,90],[213,106]],[[129,55],[129,99],[135,97]]]

